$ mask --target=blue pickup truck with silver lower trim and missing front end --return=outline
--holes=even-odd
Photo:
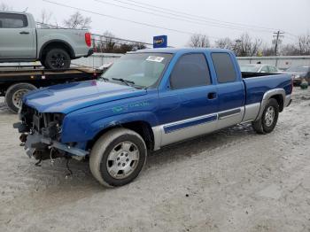
[[[291,92],[291,75],[241,73],[230,50],[138,50],[97,81],[30,92],[14,128],[29,157],[89,158],[97,181],[114,187],[168,144],[239,123],[272,132]]]

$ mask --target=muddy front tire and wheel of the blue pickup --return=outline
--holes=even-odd
[[[131,168],[131,173],[129,173],[128,176],[125,176],[124,171],[123,174],[121,174],[122,170],[119,170],[117,173],[115,173],[119,175],[118,178],[116,178],[111,174],[111,171],[109,172],[108,166],[111,166],[111,169],[112,166],[115,168],[122,168],[122,166],[124,166],[124,163],[121,163],[120,165],[119,162],[126,162],[127,160],[117,161],[123,158],[126,159],[125,155],[122,154],[123,150],[121,149],[123,143],[133,143],[132,148],[134,148],[135,151],[138,151],[138,160],[128,161],[128,165],[126,166],[131,167],[132,165],[135,165],[135,168]],[[115,151],[115,147],[118,146],[120,146],[120,151]],[[117,157],[115,157],[115,161],[109,159],[112,151],[114,151],[114,154],[117,153],[117,155],[115,155]],[[120,157],[123,155],[124,157]],[[146,145],[140,135],[138,135],[135,131],[126,128],[114,128],[105,133],[105,135],[102,135],[94,144],[90,152],[89,167],[91,173],[94,175],[98,182],[105,185],[106,187],[117,187],[125,185],[136,179],[138,174],[140,174],[142,171],[143,166],[145,165],[146,158]],[[126,168],[126,166],[124,168]],[[122,175],[124,175],[123,178]]]

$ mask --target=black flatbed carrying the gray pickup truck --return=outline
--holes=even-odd
[[[82,67],[43,69],[41,67],[0,67],[0,97],[12,112],[19,112],[21,97],[28,91],[50,85],[97,79],[103,71]]]

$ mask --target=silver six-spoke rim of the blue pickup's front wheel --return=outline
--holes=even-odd
[[[136,170],[139,157],[135,143],[121,142],[110,151],[106,161],[107,171],[115,179],[127,178]]]

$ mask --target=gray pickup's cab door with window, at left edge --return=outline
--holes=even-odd
[[[25,14],[1,12],[0,59],[35,58],[33,27]]]

